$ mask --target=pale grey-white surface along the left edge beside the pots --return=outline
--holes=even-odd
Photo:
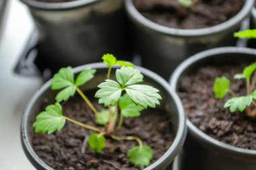
[[[28,99],[41,83],[40,79],[13,73],[33,26],[24,5],[8,1],[11,4],[0,42],[0,169],[33,170],[22,151],[20,120]]]

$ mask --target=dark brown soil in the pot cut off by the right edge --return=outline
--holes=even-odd
[[[256,118],[239,112],[231,114],[224,108],[231,96],[216,99],[213,92],[214,79],[224,75],[230,79],[230,88],[237,96],[246,95],[245,81],[233,79],[243,68],[245,65],[203,67],[181,77],[177,90],[187,117],[197,128],[226,144],[256,150]]]

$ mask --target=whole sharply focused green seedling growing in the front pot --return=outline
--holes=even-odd
[[[98,85],[100,89],[95,97],[106,109],[96,110],[90,99],[79,89],[93,79],[95,69],[86,69],[74,79],[71,67],[63,68],[51,82],[51,89],[61,90],[55,98],[57,103],[47,106],[44,112],[36,116],[36,122],[33,124],[35,132],[51,134],[60,131],[66,121],[73,122],[95,132],[90,134],[88,145],[96,153],[101,153],[106,146],[104,136],[109,136],[113,140],[135,140],[138,146],[131,148],[127,158],[135,166],[146,167],[153,159],[152,148],[144,145],[137,136],[117,136],[116,132],[121,129],[124,118],[140,116],[140,112],[148,107],[156,108],[162,97],[158,94],[158,89],[139,84],[143,82],[143,75],[133,68],[131,62],[117,60],[112,54],[105,54],[102,59],[109,69],[106,80]],[[110,79],[110,75],[115,65],[121,66],[121,69],[116,70],[114,80]],[[67,101],[76,91],[94,112],[94,121],[99,124],[99,127],[90,126],[63,115],[61,102]]]

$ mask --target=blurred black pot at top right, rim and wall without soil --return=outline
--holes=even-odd
[[[251,13],[254,0],[245,5],[234,17],[210,28],[183,30],[168,28],[143,17],[133,5],[125,0],[125,7],[133,23],[135,50],[142,58],[142,65],[168,79],[172,71],[185,58],[206,49],[234,46],[233,38],[241,22]]]

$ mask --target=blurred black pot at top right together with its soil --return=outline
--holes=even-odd
[[[235,3],[234,1],[218,1],[219,3],[197,1],[191,7],[183,7],[179,2],[181,3],[178,0],[125,1],[129,19],[133,23],[135,50],[142,58],[143,67],[159,73],[166,79],[181,61],[197,52],[218,46],[233,46],[235,44],[235,39],[232,37],[233,32],[239,30],[241,22],[249,15],[254,3],[253,0],[236,1]],[[238,6],[229,7],[228,3]],[[221,8],[223,8],[222,12],[226,13],[230,9],[232,11],[240,7],[240,11],[236,11],[236,14],[234,11],[231,12],[224,17],[227,19],[226,21],[224,19],[216,25],[217,17],[214,15],[222,15],[220,14]],[[203,9],[206,9],[205,13]],[[194,14],[193,11],[195,11]],[[202,14],[198,17],[202,12],[205,15]],[[214,19],[214,22],[210,22],[210,25],[207,26],[207,22],[202,20],[205,16]],[[223,15],[218,18],[223,19]],[[172,19],[173,22],[168,19]],[[206,25],[202,26],[204,28],[199,28],[197,25],[193,25],[195,27],[188,26],[188,29],[185,26],[177,28],[178,26],[175,24],[183,24],[186,19],[187,24],[185,25],[200,24],[200,22],[206,23]],[[166,20],[168,21],[166,22]],[[158,67],[159,65],[161,67]]]

